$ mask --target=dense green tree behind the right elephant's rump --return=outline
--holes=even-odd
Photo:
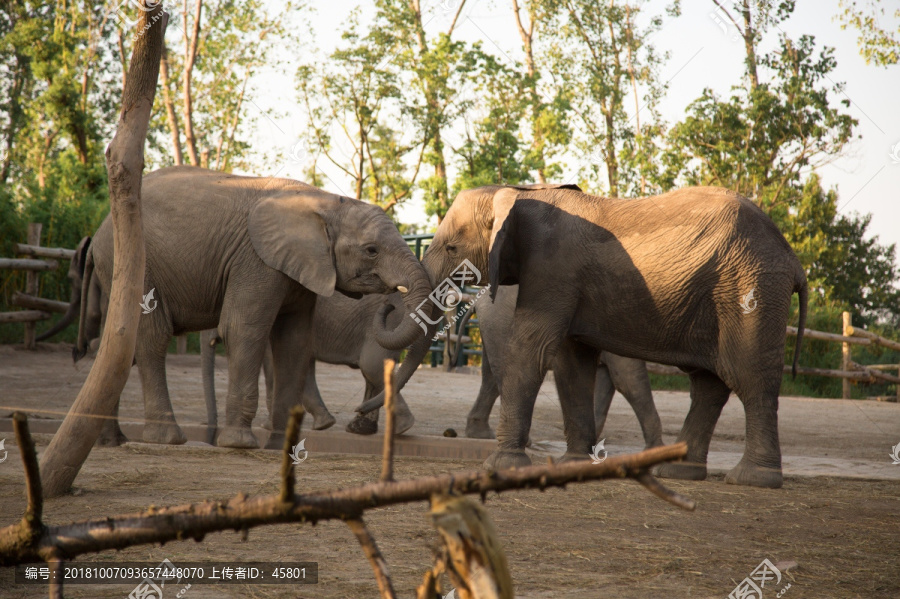
[[[759,57],[763,33],[792,11],[793,2],[759,9],[743,2],[733,22],[746,42],[744,81],[727,99],[706,89],[688,106],[669,132],[658,183],[720,185],[747,196],[791,242],[813,292],[850,309],[858,324],[897,322],[894,246],[866,239],[869,217],[840,214],[837,192],[825,191],[816,174],[857,124],[844,112],[847,101],[834,101],[842,88],[831,83],[833,50],[782,33],[778,48]]]

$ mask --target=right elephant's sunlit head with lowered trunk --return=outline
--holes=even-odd
[[[515,190],[541,189],[581,191],[577,185],[538,183],[486,185],[459,192],[422,258],[432,286],[438,288],[466,260],[478,271],[480,284],[487,284],[491,245],[509,213],[515,199]],[[397,375],[398,389],[403,388],[425,359],[425,354],[431,346],[431,339],[437,330],[437,321],[441,314],[440,306],[434,302],[426,302],[425,307],[427,310],[424,308],[422,310],[427,318],[421,320],[425,323],[426,334],[421,336],[420,333],[403,361]],[[389,310],[389,307],[385,307],[382,316]],[[359,406],[357,411],[370,412],[381,407],[383,403],[383,394],[377,395]]]

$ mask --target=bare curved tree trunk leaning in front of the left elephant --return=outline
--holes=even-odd
[[[106,150],[109,203],[116,267],[113,271],[106,327],[100,351],[69,414],[44,452],[40,470],[46,497],[71,488],[103,417],[112,414],[128,380],[134,359],[140,301],[144,284],[144,234],[141,223],[141,175],[144,143],[153,110],[159,59],[168,15],[162,3],[141,11],[137,38],[122,97],[116,134]],[[152,25],[144,29],[146,25]]]

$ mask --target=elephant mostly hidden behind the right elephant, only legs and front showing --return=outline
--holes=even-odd
[[[466,418],[466,436],[477,439],[493,439],[488,419],[494,402],[500,396],[500,388],[494,376],[493,366],[502,370],[506,351],[504,340],[512,328],[513,314],[516,309],[516,297],[519,289],[516,285],[503,285],[497,289],[494,301],[482,296],[475,302],[478,312],[478,328],[481,331],[481,388],[475,404]],[[473,310],[463,316],[461,330],[471,317]],[[457,345],[457,348],[461,344]],[[647,449],[658,447],[662,441],[662,422],[653,403],[653,392],[650,389],[650,377],[647,365],[641,360],[624,358],[607,351],[600,353],[597,365],[596,382],[594,384],[594,426],[595,439],[600,439],[606,424],[606,415],[612,403],[613,395],[618,389],[634,410],[641,425],[644,445]]]

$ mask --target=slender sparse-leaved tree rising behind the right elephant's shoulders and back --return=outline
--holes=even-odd
[[[662,133],[656,105],[665,90],[658,74],[664,57],[648,39],[663,20],[654,16],[639,26],[643,4],[548,3],[556,8],[551,22],[559,33],[547,51],[549,72],[577,122],[573,145],[583,157],[581,175],[588,187],[614,197],[648,193]]]

